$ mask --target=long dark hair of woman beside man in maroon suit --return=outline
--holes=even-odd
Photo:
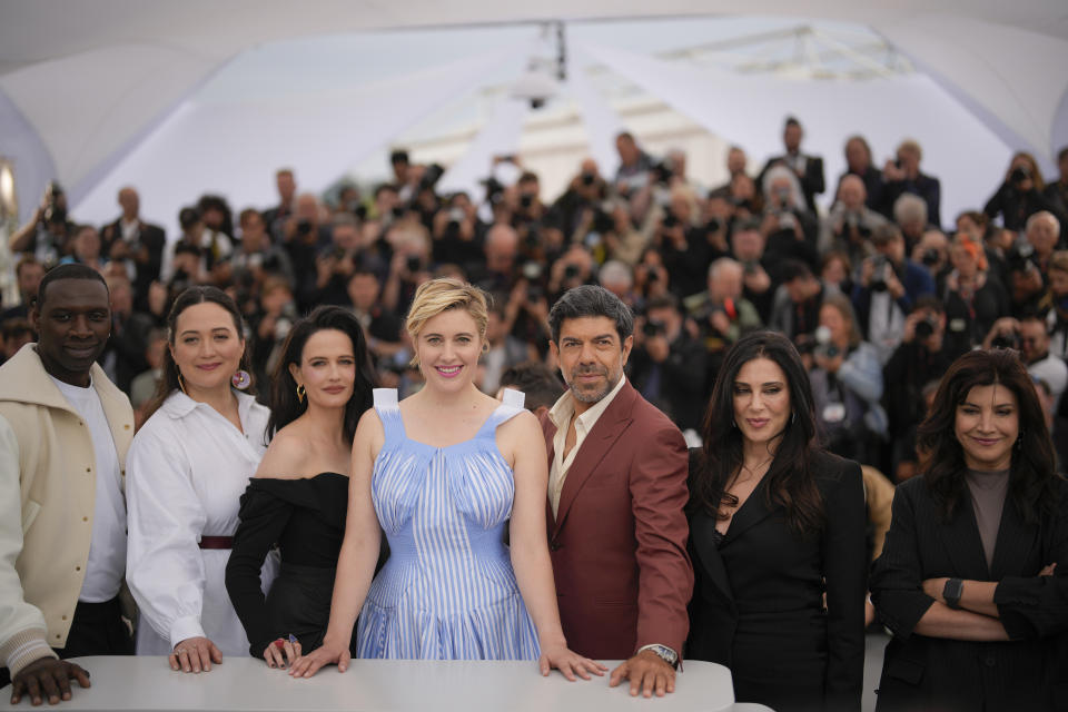
[[[704,510],[722,520],[726,518],[720,511],[723,505],[738,505],[738,497],[725,491],[743,463],[742,432],[734,426],[734,380],[754,358],[774,362],[785,374],[793,411],[764,475],[765,501],[769,506],[782,506],[790,527],[805,535],[823,526],[823,501],[809,469],[818,447],[812,388],[798,349],[774,332],[748,334],[726,354],[704,416],[704,462],[691,478],[690,510]]]

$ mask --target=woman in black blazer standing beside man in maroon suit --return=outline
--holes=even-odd
[[[730,666],[740,702],[859,710],[863,481],[818,447],[809,378],[781,334],[728,353],[691,457],[689,516],[686,654]]]

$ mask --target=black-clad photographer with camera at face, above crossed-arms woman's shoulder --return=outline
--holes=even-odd
[[[946,348],[946,307],[933,295],[916,300],[904,320],[901,344],[883,369],[883,394],[893,444],[893,471],[901,459],[901,444],[926,414],[923,386],[942,377],[953,362]],[[911,453],[909,453],[911,456]]]

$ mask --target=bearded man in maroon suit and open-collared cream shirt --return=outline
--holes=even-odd
[[[562,296],[548,317],[568,389],[543,419],[548,537],[568,646],[624,662],[610,683],[674,690],[689,630],[686,446],[626,382],[630,308],[603,287]]]

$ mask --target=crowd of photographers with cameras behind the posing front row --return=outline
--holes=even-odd
[[[941,374],[971,348],[1018,349],[1064,433],[1068,251],[1058,250],[1068,246],[1068,149],[1048,182],[1017,154],[1003,177],[991,176],[982,209],[953,216],[946,230],[940,182],[922,172],[914,141],[879,167],[867,141],[850,137],[848,171],[821,214],[822,159],[802,140],[788,119],[782,155],[755,175],[732,148],[730,179],[710,189],[688,176],[684,154],[653,158],[624,132],[615,175],[582,161],[552,201],[514,157],[495,161],[484,194],[441,195],[442,168],[397,150],[393,180],[370,195],[343,186],[327,204],[281,169],[276,206],[235,215],[224,197],[205,195],[180,211],[170,241],[141,219],[134,188],[120,191],[118,218],[98,227],[76,222],[52,184],[9,239],[20,300],[0,314],[0,358],[34,338],[27,304],[46,269],[78,261],[110,288],[101,365],[135,408],[159,375],[170,300],[191,284],[237,299],[259,379],[300,314],[338,304],[363,322],[383,384],[411,392],[418,373],[404,314],[422,281],[451,275],[494,296],[479,383],[495,393],[505,369],[551,358],[554,299],[597,283],[639,315],[631,382],[683,431],[700,431],[725,350],[769,327],[807,360],[831,449],[891,479],[916,472],[916,424]]]

